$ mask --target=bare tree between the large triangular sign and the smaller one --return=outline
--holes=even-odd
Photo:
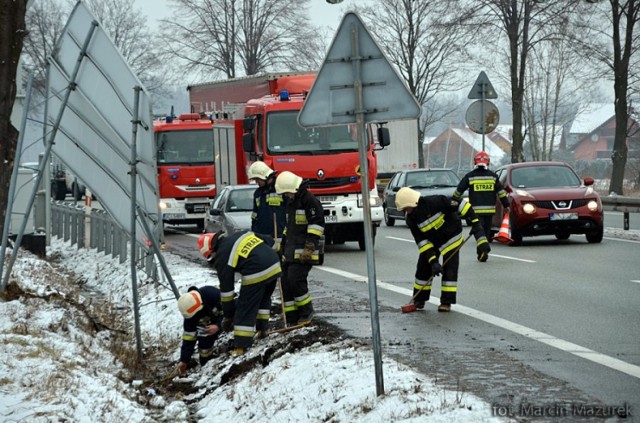
[[[467,18],[451,0],[379,0],[359,9],[418,102],[435,104],[435,97],[460,88],[460,63],[470,27]],[[424,167],[422,140],[433,123],[452,112],[441,107],[423,107],[418,136],[419,166]]]

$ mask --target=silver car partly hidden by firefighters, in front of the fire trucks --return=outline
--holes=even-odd
[[[221,229],[228,234],[251,229],[253,193],[258,186],[228,185],[216,195],[207,213],[205,233]]]

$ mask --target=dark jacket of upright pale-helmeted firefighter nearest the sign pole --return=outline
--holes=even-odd
[[[305,245],[310,243],[313,244],[310,264],[321,264],[324,258],[324,209],[320,200],[307,190],[307,185],[303,182],[293,201],[287,204],[284,258],[299,263]]]

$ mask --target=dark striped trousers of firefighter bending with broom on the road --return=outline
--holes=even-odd
[[[453,254],[453,257],[449,257]],[[458,249],[447,252],[442,257],[444,265],[442,272],[440,304],[455,304],[456,293],[458,292],[458,267],[460,265],[460,256]],[[415,302],[427,302],[431,296],[431,285],[433,278],[431,277],[431,264],[424,254],[420,254],[418,265],[416,268],[416,280],[413,284],[413,294],[420,291],[416,296]]]

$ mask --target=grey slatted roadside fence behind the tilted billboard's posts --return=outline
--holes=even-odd
[[[78,248],[95,248],[118,258],[120,263],[129,258],[129,234],[120,229],[104,210],[92,208],[87,213],[84,206],[52,201],[51,236],[71,242],[71,245],[77,245]],[[143,268],[150,277],[157,279],[157,267],[150,250],[136,243],[135,257],[139,264],[137,267]]]

